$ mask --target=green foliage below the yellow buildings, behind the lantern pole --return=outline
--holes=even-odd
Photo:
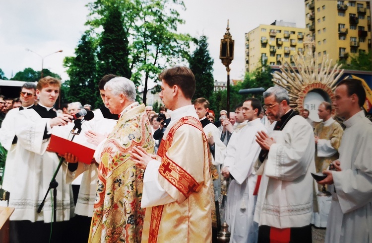
[[[234,111],[234,108],[239,103],[243,103],[248,97],[255,97],[262,100],[262,94],[239,94],[239,90],[246,88],[258,88],[263,87],[265,90],[271,86],[272,83],[271,69],[268,65],[258,67],[252,73],[246,73],[244,81],[237,83],[237,85],[230,85],[230,111]],[[210,98],[210,108],[218,113],[220,110],[226,110],[227,108],[227,91],[214,92]]]

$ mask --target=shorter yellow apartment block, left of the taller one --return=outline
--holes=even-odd
[[[295,23],[275,21],[246,33],[246,72],[255,70],[260,62],[282,65],[287,61],[294,65],[294,53],[304,52],[305,31]]]

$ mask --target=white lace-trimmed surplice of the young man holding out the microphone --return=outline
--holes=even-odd
[[[14,117],[15,135],[18,138],[14,153],[8,153],[3,188],[10,192],[9,207],[14,207],[10,220],[52,221],[52,199],[48,194],[42,212],[37,209],[48,190],[49,183],[59,164],[56,153],[46,151],[50,139],[44,139],[49,118],[41,118],[34,109],[17,112]],[[69,220],[74,205],[71,186],[66,184],[64,168],[59,170],[57,187],[57,221]]]

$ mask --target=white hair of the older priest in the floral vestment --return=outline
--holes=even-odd
[[[105,90],[110,89],[114,95],[123,93],[129,101],[135,101],[137,96],[134,82],[124,77],[111,79],[105,84],[104,88]]]

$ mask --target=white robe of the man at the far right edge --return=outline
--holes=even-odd
[[[325,242],[372,243],[372,123],[360,111],[344,124]]]

